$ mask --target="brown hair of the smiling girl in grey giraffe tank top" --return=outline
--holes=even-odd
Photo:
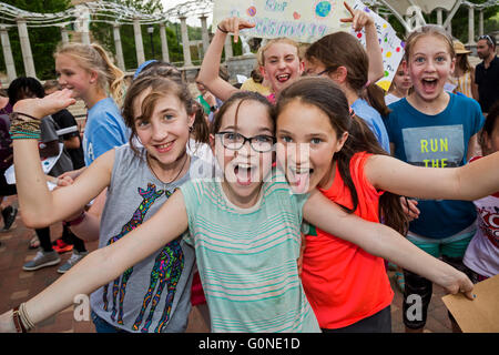
[[[144,91],[150,90],[149,94],[142,101],[142,120],[147,120],[154,112],[154,108],[159,99],[164,98],[166,94],[173,94],[182,102],[186,113],[196,113],[197,106],[193,104],[193,99],[187,85],[181,80],[171,80],[164,77],[144,75],[138,78],[132,82],[123,102],[122,115],[126,126],[132,131],[130,135],[130,146],[139,155],[139,150],[134,145],[134,141],[138,138],[135,120],[136,116],[133,112],[134,100]],[[193,124],[193,135],[196,141],[207,142],[207,123],[204,116],[195,115]]]

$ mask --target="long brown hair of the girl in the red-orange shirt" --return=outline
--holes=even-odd
[[[305,77],[292,83],[281,92],[276,105],[277,118],[279,112],[294,100],[314,105],[327,114],[337,139],[340,139],[344,132],[348,132],[348,139],[343,149],[334,154],[332,163],[336,161],[339,174],[352,194],[353,209],[346,206],[344,209],[349,213],[355,212],[358,206],[358,193],[350,175],[352,158],[358,152],[388,154],[379,145],[365,121],[350,114],[345,93],[332,80]],[[379,199],[379,215],[388,226],[401,234],[407,232],[407,216],[401,210],[399,196],[389,192],[384,193]]]

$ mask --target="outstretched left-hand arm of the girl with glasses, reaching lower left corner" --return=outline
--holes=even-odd
[[[58,281],[29,300],[26,303],[29,320],[35,325],[67,308],[73,304],[75,296],[88,295],[116,278],[186,229],[184,199],[176,191],[149,221],[116,243],[90,253]],[[12,311],[0,315],[0,333],[4,332],[16,332]]]

